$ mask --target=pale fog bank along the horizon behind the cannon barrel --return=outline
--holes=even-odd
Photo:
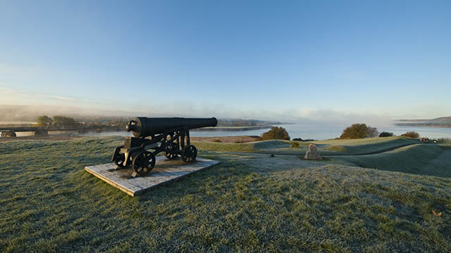
[[[82,119],[83,117],[216,117],[218,119],[261,119],[299,124],[328,124],[344,126],[354,123],[366,123],[381,127],[391,124],[393,119],[383,112],[345,112],[329,109],[293,108],[289,110],[243,109],[230,105],[200,105],[195,103],[180,103],[176,105],[149,105],[138,110],[120,110],[94,108],[78,108],[55,105],[0,105],[1,121],[4,122],[35,122],[40,115],[65,115]]]

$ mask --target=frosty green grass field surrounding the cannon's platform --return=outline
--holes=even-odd
[[[451,252],[446,146],[433,147],[424,158],[428,166],[443,166],[437,176],[383,170],[415,166],[402,165],[410,155],[396,157],[424,152],[424,145],[375,154],[390,158],[386,164],[376,159],[381,169],[345,165],[371,164],[371,155],[309,162],[293,155],[200,150],[221,163],[130,197],[83,169],[109,162],[122,141],[0,142],[0,252]],[[351,153],[359,151],[357,145],[392,145],[371,142],[319,144],[342,145]],[[273,143],[228,151],[289,145]]]

